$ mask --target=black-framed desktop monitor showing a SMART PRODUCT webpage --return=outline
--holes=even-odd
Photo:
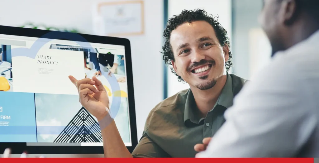
[[[0,45],[1,154],[5,148],[12,154],[103,154],[98,121],[79,103],[69,75],[97,76],[122,140],[133,151],[137,130],[128,39],[0,26]]]

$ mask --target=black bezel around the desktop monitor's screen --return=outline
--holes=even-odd
[[[42,29],[31,29],[13,26],[0,26],[0,34],[25,36],[35,38],[47,38],[56,40],[69,40],[69,41],[83,41],[79,37],[72,37],[72,40],[63,38],[63,35],[80,35],[87,42],[101,43],[111,45],[122,45],[125,47],[125,70],[127,75],[128,84],[128,101],[130,113],[130,132],[132,146],[127,146],[127,149],[132,153],[137,145],[137,127],[136,127],[136,112],[133,88],[133,72],[132,72],[132,59],[130,41],[126,38],[98,36],[83,33],[70,33],[61,31],[49,31]],[[60,36],[60,37],[59,37]],[[61,37],[62,36],[62,37]],[[103,154],[103,146],[27,146],[27,143],[3,143],[0,142],[0,154],[6,148],[11,148],[11,154],[21,154],[27,151],[28,154]]]

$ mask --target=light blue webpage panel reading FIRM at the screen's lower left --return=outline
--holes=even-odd
[[[34,93],[0,91],[0,142],[37,142]]]

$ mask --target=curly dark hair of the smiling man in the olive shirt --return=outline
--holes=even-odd
[[[200,10],[200,9],[195,9],[193,11],[183,10],[181,14],[177,16],[174,15],[173,18],[168,19],[166,28],[163,32],[163,36],[165,37],[165,43],[164,43],[164,46],[162,47],[163,52],[161,53],[163,53],[163,60],[165,61],[166,64],[172,65],[172,61],[175,61],[174,54],[169,42],[172,31],[185,22],[191,23],[197,20],[204,20],[208,22],[214,28],[216,32],[216,37],[218,38],[220,45],[224,46],[225,44],[227,44],[228,47],[230,47],[227,31],[219,24],[218,17],[207,15],[206,11]],[[232,58],[233,58],[232,53],[229,52],[229,60],[225,63],[227,71],[233,65],[231,61]],[[184,81],[182,77],[176,74],[173,67],[170,67],[170,68],[172,72],[178,77],[179,82]]]

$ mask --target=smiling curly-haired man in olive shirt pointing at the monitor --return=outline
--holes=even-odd
[[[246,82],[227,72],[232,65],[229,39],[216,17],[203,10],[182,11],[168,20],[164,37],[163,59],[190,89],[152,109],[132,154],[114,120],[101,127],[105,157],[195,157],[194,145],[219,130],[225,122],[225,110]],[[81,104],[103,125],[109,103],[101,82],[95,76],[69,78],[78,89]]]

